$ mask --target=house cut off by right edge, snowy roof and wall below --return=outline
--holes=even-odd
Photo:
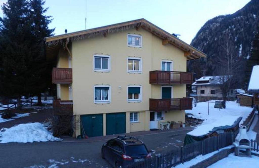
[[[248,91],[250,93],[254,93],[254,104],[259,105],[259,65],[255,65],[253,67],[248,85]]]

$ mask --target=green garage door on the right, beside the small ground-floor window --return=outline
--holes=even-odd
[[[126,132],[126,113],[106,114],[106,135]]]

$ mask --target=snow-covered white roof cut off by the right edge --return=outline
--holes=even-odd
[[[259,65],[255,65],[253,67],[249,85],[248,85],[248,90],[259,92]]]

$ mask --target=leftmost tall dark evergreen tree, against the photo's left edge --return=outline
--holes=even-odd
[[[26,0],[8,0],[3,4],[4,17],[0,18],[0,94],[17,98],[28,94],[27,62],[31,54],[31,29],[29,8]]]

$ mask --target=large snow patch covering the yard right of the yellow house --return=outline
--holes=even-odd
[[[209,115],[208,102],[199,102],[196,107],[193,106],[192,110],[185,110],[185,113],[193,115],[189,116],[204,120],[196,129],[188,132],[189,135],[205,135],[214,127],[234,124],[239,117],[242,117],[241,124],[253,110],[253,108],[240,106],[239,103],[233,101],[226,102],[226,109],[214,108],[214,102],[215,100],[211,100],[209,103]]]

